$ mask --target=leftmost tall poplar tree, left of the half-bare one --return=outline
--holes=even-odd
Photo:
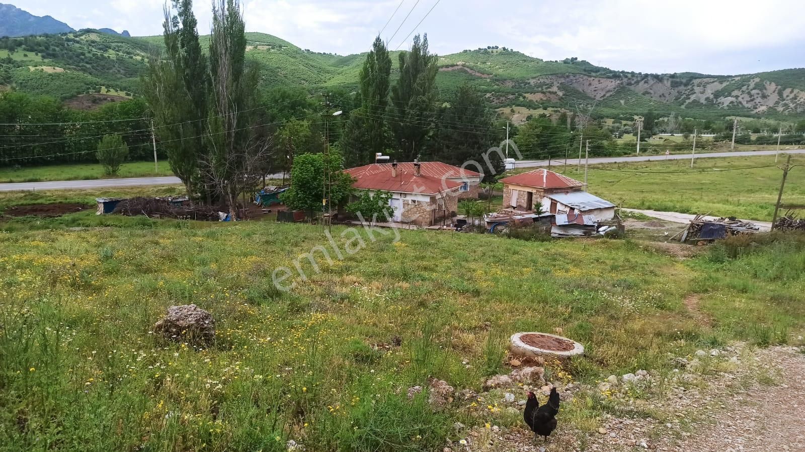
[[[173,16],[167,6],[164,10],[165,55],[151,56],[142,85],[171,170],[188,194],[196,195],[204,192],[198,162],[206,146],[207,58],[201,52],[192,0],[173,0],[173,10]]]

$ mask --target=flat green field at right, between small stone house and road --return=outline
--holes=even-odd
[[[777,165],[783,162],[785,156]],[[788,175],[783,202],[803,205],[805,156],[794,155],[791,163],[799,166]],[[771,220],[782,179],[773,155],[701,158],[692,170],[690,165],[690,160],[669,160],[590,166],[589,191],[625,208]],[[766,167],[735,171],[752,166]],[[552,169],[563,170],[562,166]],[[571,166],[565,171],[574,179],[584,179],[584,168]]]

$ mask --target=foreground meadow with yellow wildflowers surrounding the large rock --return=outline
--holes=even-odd
[[[301,256],[331,246],[320,227],[114,221],[0,223],[13,231],[0,233],[0,450],[286,450],[290,438],[308,450],[436,450],[456,421],[521,420],[494,400],[433,411],[407,388],[435,376],[480,391],[514,331],[563,327],[587,354],[553,378],[594,384],[671,372],[667,353],[784,343],[805,314],[796,238],[683,262],[630,240],[361,231],[365,248],[344,260],[316,252],[317,273]],[[346,231],[332,231],[342,250],[355,240]],[[294,260],[308,281],[278,290],[271,274]],[[712,327],[687,313],[688,294]],[[213,347],[150,333],[184,303],[215,316]],[[402,345],[387,353],[369,347],[394,337]],[[606,407],[593,398],[563,416],[593,429]]]

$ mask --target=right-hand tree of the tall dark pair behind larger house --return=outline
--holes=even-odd
[[[434,129],[436,55],[427,48],[427,35],[414,36],[410,51],[399,54],[400,77],[391,88],[391,131],[399,157],[413,160],[422,153]]]

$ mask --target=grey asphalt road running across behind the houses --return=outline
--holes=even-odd
[[[786,154],[805,154],[805,149],[794,149],[783,151]],[[774,150],[738,150],[735,152],[705,152],[696,154],[696,158],[724,158],[724,157],[753,157],[758,155],[774,155]],[[671,155],[640,155],[636,157],[594,157],[590,158],[590,164],[599,163],[618,163],[618,162],[655,162],[663,160],[687,160],[690,154],[671,154]],[[551,165],[563,165],[564,158],[551,160]],[[568,158],[568,165],[578,165],[578,158]],[[584,165],[584,159],[581,164]],[[520,160],[517,168],[530,168],[534,166],[547,166],[547,160]],[[281,179],[282,174],[268,175],[269,179]],[[151,185],[176,185],[181,183],[179,178],[173,176],[158,178],[126,178],[126,179],[93,179],[93,180],[61,180],[51,182],[24,182],[24,183],[0,183],[0,191],[36,191],[36,190],[81,190],[86,188],[110,188],[110,187],[141,187]]]

